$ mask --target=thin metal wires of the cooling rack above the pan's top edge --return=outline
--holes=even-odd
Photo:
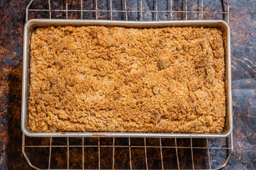
[[[48,5],[49,5],[49,9],[29,9],[30,5],[32,4],[34,0],[31,0],[29,2],[29,5],[27,5],[27,8],[26,8],[26,21],[28,20],[28,13],[30,11],[46,11],[46,12],[49,12],[49,18],[51,19],[52,16],[51,16],[51,12],[52,11],[59,11],[59,12],[66,12],[66,19],[68,19],[68,12],[81,12],[81,18],[76,18],[76,19],[83,19],[83,12],[96,12],[96,20],[98,20],[98,12],[110,12],[110,20],[113,20],[113,12],[125,12],[125,19],[126,21],[128,21],[128,17],[127,17],[127,13],[128,12],[138,12],[140,13],[140,21],[143,21],[143,17],[142,17],[142,13],[145,13],[145,12],[154,12],[155,13],[155,21],[157,21],[157,14],[159,12],[167,12],[167,13],[170,13],[171,15],[171,20],[173,19],[172,15],[173,13],[185,13],[185,16],[186,16],[186,20],[188,19],[187,17],[187,14],[189,13],[197,13],[197,14],[201,14],[201,20],[203,20],[203,14],[209,14],[209,13],[212,13],[212,14],[226,14],[227,15],[227,23],[229,23],[229,5],[228,3],[225,1],[225,0],[222,0],[222,2],[224,2],[226,4],[226,12],[223,11],[223,12],[213,12],[213,11],[203,11],[203,0],[201,0],[201,10],[200,11],[187,11],[187,0],[185,0],[185,11],[175,11],[173,10],[173,1],[174,0],[168,0],[170,2],[170,6],[171,6],[171,10],[168,10],[168,11],[159,11],[157,10],[157,4],[158,4],[158,1],[160,0],[155,0],[155,10],[154,11],[151,11],[151,10],[143,10],[142,9],[142,2],[143,0],[140,0],[140,10],[137,11],[137,10],[127,10],[126,8],[126,0],[124,0],[124,5],[125,5],[125,10],[113,10],[112,9],[112,1],[114,0],[110,0],[110,10],[101,10],[101,9],[98,9],[98,0],[96,0],[95,2],[95,10],[86,10],[83,8],[83,0],[81,0],[81,9],[75,9],[75,10],[70,10],[68,9],[68,0],[66,0],[66,9],[51,9],[51,4],[50,4],[50,0],[48,0]],[[79,0],[80,1],[80,0]],[[198,2],[199,3],[199,2]]]

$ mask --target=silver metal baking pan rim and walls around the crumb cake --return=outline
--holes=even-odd
[[[226,117],[225,127],[220,133],[145,133],[145,132],[32,132],[28,127],[29,98],[29,54],[30,37],[37,27],[49,26],[115,26],[133,28],[159,27],[215,27],[223,32],[225,49],[225,83],[226,83]],[[24,26],[23,37],[23,73],[21,129],[30,137],[161,137],[161,138],[221,138],[228,137],[232,132],[232,93],[231,93],[231,57],[230,57],[230,27],[222,20],[191,20],[191,21],[106,21],[106,20],[29,20]]]

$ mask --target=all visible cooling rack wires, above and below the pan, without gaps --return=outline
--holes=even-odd
[[[170,8],[171,10],[168,10],[168,11],[158,11],[157,10],[157,4],[158,4],[158,1],[160,0],[155,0],[155,10],[152,11],[152,10],[149,10],[149,11],[143,11],[142,9],[142,0],[140,0],[140,10],[127,10],[127,6],[126,6],[126,0],[124,0],[124,8],[125,10],[113,10],[112,8],[112,1],[114,0],[110,0],[110,10],[101,10],[101,9],[98,9],[98,0],[96,0],[95,2],[95,10],[86,10],[83,8],[83,0],[79,0],[80,3],[81,3],[81,9],[75,9],[75,10],[70,10],[68,9],[68,1],[66,0],[66,9],[51,9],[51,3],[50,3],[50,0],[48,0],[48,6],[49,6],[49,9],[29,9],[30,5],[33,3],[34,0],[31,0],[29,2],[29,5],[27,5],[27,8],[26,8],[26,21],[28,20],[28,16],[29,16],[29,12],[32,12],[32,11],[35,11],[35,12],[38,12],[38,11],[45,11],[45,12],[49,12],[49,18],[52,18],[52,12],[53,11],[59,11],[59,12],[65,12],[66,13],[66,19],[68,19],[68,13],[69,12],[81,12],[81,18],[76,18],[76,19],[83,19],[83,12],[96,12],[96,20],[98,20],[98,13],[99,12],[108,12],[110,13],[110,17],[108,17],[109,20],[113,20],[113,12],[125,12],[125,20],[128,21],[128,12],[137,12],[138,14],[140,14],[140,21],[143,21],[144,18],[143,18],[143,13],[145,12],[151,12],[151,13],[154,13],[155,14],[155,17],[153,18],[153,20],[157,21],[158,20],[158,17],[157,15],[159,15],[159,12],[166,12],[168,14],[171,15],[171,20],[173,20],[173,14],[174,13],[183,13],[185,14],[185,19],[187,20],[188,19],[188,16],[187,14],[189,13],[197,13],[197,14],[200,14],[201,15],[201,19],[203,20],[203,14],[207,14],[207,13],[213,13],[213,14],[223,14],[223,15],[226,15],[226,21],[227,23],[229,23],[229,5],[226,3],[225,0],[223,0],[222,2],[224,2],[226,4],[226,10],[224,10],[223,12],[211,12],[211,11],[203,11],[203,0],[201,0],[201,10],[199,11],[187,11],[187,0],[185,0],[185,10],[184,11],[175,11],[173,10],[173,0],[169,0],[170,2]],[[199,3],[199,2],[198,2]],[[225,12],[226,11],[226,12]],[[224,18],[224,17],[223,17]],[[85,165],[84,165],[84,149],[86,147],[95,147],[94,145],[91,146],[91,145],[84,145],[84,137],[82,137],[82,145],[69,145],[69,138],[67,138],[67,145],[52,145],[52,137],[50,137],[50,145],[41,145],[41,146],[26,146],[26,137],[25,135],[23,134],[23,141],[22,141],[22,152],[23,152],[23,155],[24,157],[26,158],[27,162],[29,163],[29,165],[37,170],[40,170],[40,168],[36,167],[35,165],[33,165],[30,160],[29,160],[29,157],[26,155],[26,152],[25,152],[25,148],[29,148],[29,147],[33,147],[33,148],[39,148],[39,147],[49,147],[49,166],[46,170],[50,170],[50,163],[51,163],[51,153],[52,153],[52,148],[53,147],[67,147],[67,170],[69,170],[69,159],[70,159],[70,155],[69,155],[69,148],[70,147],[82,147],[82,170],[85,170]],[[207,149],[207,154],[208,154],[208,161],[209,161],[209,170],[217,170],[217,169],[220,169],[220,168],[223,168],[224,166],[226,166],[227,162],[229,161],[229,158],[233,152],[233,135],[231,134],[230,135],[230,147],[209,147],[209,143],[208,143],[208,139],[207,140],[207,146],[206,147],[193,147],[192,146],[192,138],[190,138],[190,147],[181,147],[181,146],[178,146],[177,144],[177,139],[175,138],[175,146],[162,146],[162,139],[159,138],[159,143],[160,145],[159,146],[146,146],[146,138],[144,138],[144,146],[131,146],[131,138],[128,138],[129,140],[129,146],[115,146],[115,138],[113,138],[113,145],[112,146],[101,146],[100,145],[100,138],[98,138],[98,160],[99,160],[99,163],[98,163],[98,169],[95,169],[95,170],[100,170],[101,169],[101,156],[100,156],[100,149],[101,147],[113,147],[113,166],[112,166],[112,169],[114,170],[114,162],[115,162],[115,148],[117,147],[128,147],[129,148],[129,163],[130,163],[130,169],[133,169],[132,168],[132,161],[131,161],[131,148],[145,148],[145,161],[146,161],[146,170],[149,170],[149,167],[148,167],[148,156],[147,156],[147,148],[150,148],[150,147],[155,147],[155,148],[160,148],[160,154],[161,154],[161,164],[162,164],[162,170],[164,170],[164,164],[163,164],[163,153],[162,153],[162,149],[163,148],[174,148],[176,150],[176,156],[177,156],[177,165],[178,165],[178,170],[180,170],[180,161],[179,161],[179,156],[178,156],[178,149],[191,149],[191,156],[192,156],[192,169],[194,170],[195,169],[195,165],[194,165],[194,158],[193,158],[193,149]],[[224,150],[227,150],[229,151],[229,153],[227,154],[227,159],[226,161],[224,162],[224,164],[222,164],[221,166],[217,167],[217,168],[214,168],[212,169],[212,165],[211,165],[211,161],[210,161],[210,152],[209,152],[209,149],[224,149]],[[1,156],[2,158],[2,156]],[[2,161],[2,159],[1,159]],[[171,160],[171,161],[174,161],[174,160]],[[47,163],[47,162],[46,162]]]

